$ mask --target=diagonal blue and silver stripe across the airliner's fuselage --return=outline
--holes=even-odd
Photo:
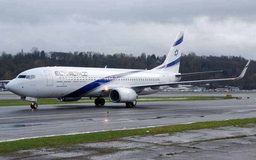
[[[76,91],[74,91],[70,94],[67,94],[64,97],[79,97],[79,96],[82,96],[86,92],[89,92],[93,89],[96,89],[98,86],[101,86],[102,84],[106,84],[110,81],[116,80],[117,78],[127,76],[129,74],[137,73],[137,72],[140,72],[140,71],[143,71],[143,70],[130,71],[130,72],[126,72],[126,73],[115,74],[115,75],[112,75],[112,76],[106,76],[102,79],[98,79],[96,81],[93,81],[93,82],[81,87],[80,89],[78,89],[78,90],[76,90]]]

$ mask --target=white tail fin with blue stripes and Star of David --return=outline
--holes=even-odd
[[[165,59],[165,62],[160,66],[153,69],[161,69],[164,71],[179,72],[180,68],[180,57],[182,52],[182,42],[183,42],[184,32],[179,31],[174,43]]]

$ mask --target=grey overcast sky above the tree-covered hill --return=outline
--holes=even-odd
[[[1,0],[0,52],[167,54],[256,60],[256,0]]]

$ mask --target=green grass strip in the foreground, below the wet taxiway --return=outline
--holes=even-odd
[[[102,131],[96,133],[85,133],[76,135],[61,135],[45,138],[31,138],[25,140],[16,140],[9,142],[0,143],[0,153],[7,154],[17,150],[32,149],[32,148],[58,148],[67,145],[74,145],[79,143],[91,143],[91,142],[102,142],[111,141],[118,138],[129,137],[129,136],[145,136],[145,135],[157,135],[163,133],[175,133],[182,132],[185,130],[197,130],[203,128],[217,128],[224,126],[242,126],[249,127],[249,123],[256,123],[256,118],[245,118],[227,121],[208,121],[208,122],[197,122],[190,124],[176,124],[169,126],[159,126],[151,128],[138,128],[128,130],[111,130]]]

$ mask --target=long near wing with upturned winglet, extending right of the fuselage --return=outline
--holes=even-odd
[[[240,76],[236,78],[228,78],[228,79],[208,79],[208,80],[198,80],[198,81],[181,81],[181,82],[170,82],[170,83],[159,83],[159,84],[143,84],[143,85],[135,85],[131,86],[132,88],[147,88],[147,87],[158,87],[158,86],[170,86],[174,84],[189,84],[189,83],[198,83],[198,82],[214,82],[214,81],[230,81],[230,80],[239,80],[244,77],[246,70],[250,64],[250,60],[247,62]]]

